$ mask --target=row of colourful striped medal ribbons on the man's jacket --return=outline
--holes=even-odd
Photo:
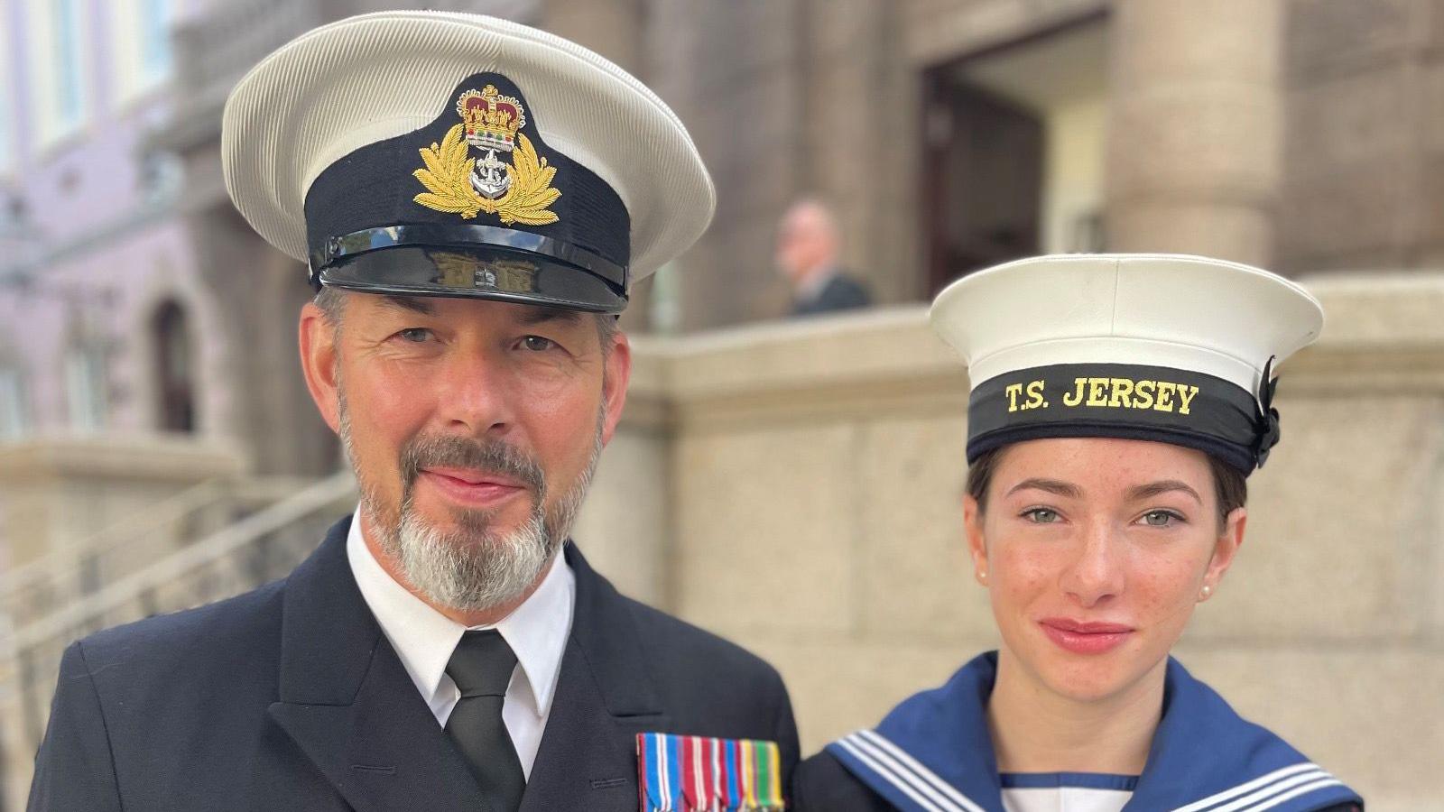
[[[774,741],[638,734],[641,812],[781,812],[781,763]]]

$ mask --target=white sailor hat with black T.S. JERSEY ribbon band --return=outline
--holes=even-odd
[[[1196,448],[1245,474],[1278,442],[1275,364],[1324,311],[1246,264],[1060,254],[947,286],[933,329],[967,363],[967,461],[1025,439],[1108,436]]]

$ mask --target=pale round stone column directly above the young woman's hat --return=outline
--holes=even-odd
[[[1279,0],[1116,0],[1108,244],[1266,266],[1279,186]]]

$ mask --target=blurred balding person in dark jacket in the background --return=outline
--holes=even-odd
[[[793,289],[794,316],[866,308],[868,289],[838,267],[838,218],[822,201],[787,208],[777,228],[777,267]]]

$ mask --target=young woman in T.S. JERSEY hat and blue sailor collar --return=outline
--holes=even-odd
[[[967,276],[963,520],[1002,646],[797,770],[801,812],[1346,812],[1357,793],[1170,657],[1243,542],[1275,364],[1323,309],[1272,273],[1057,256]]]

